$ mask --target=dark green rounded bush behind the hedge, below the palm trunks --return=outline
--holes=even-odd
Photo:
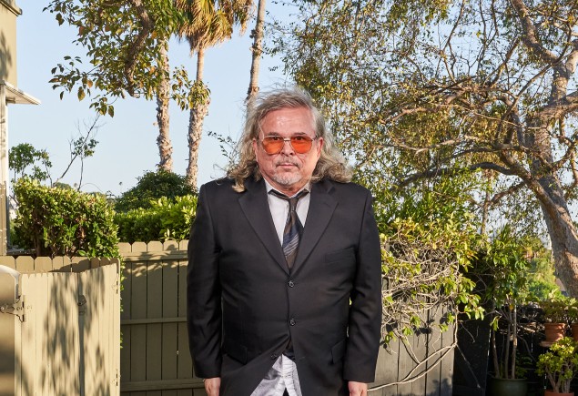
[[[191,194],[185,177],[159,169],[156,172],[146,172],[137,178],[137,186],[117,198],[115,209],[125,212],[137,208],[152,208],[158,198],[174,199]]]

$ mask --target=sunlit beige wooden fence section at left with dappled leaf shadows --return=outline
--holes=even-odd
[[[0,394],[118,394],[118,261],[2,257],[0,265],[20,273],[14,301],[0,301],[0,361],[11,363]],[[0,289],[14,287],[0,278]]]

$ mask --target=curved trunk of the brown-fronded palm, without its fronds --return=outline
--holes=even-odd
[[[197,83],[203,84],[203,66],[205,62],[205,50],[200,49],[197,53]],[[203,135],[203,121],[208,114],[208,105],[210,98],[204,102],[196,103],[190,109],[188,117],[188,167],[187,167],[187,183],[193,188],[197,189],[198,178],[198,147],[200,139]]]

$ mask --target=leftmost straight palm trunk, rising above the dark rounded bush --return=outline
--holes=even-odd
[[[170,143],[170,137],[168,134],[168,101],[169,101],[169,86],[170,86],[170,69],[168,66],[168,42],[161,46],[160,60],[162,70],[160,73],[163,74],[163,81],[158,87],[157,91],[157,125],[158,125],[158,155],[160,160],[158,162],[157,168],[167,170],[167,172],[173,171],[173,147]]]

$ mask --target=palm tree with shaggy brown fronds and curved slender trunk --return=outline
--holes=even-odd
[[[252,0],[177,0],[177,8],[188,15],[188,23],[181,25],[178,35],[187,38],[191,56],[197,54],[195,89],[199,95],[191,104],[188,123],[187,182],[196,188],[198,178],[198,147],[203,131],[203,121],[208,113],[210,97],[203,83],[205,50],[227,41],[233,27],[247,27]]]

